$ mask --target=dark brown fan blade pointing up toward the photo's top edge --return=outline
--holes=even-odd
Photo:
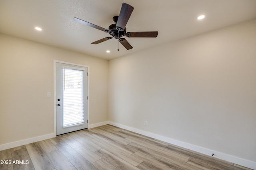
[[[124,31],[124,28],[132,14],[132,11],[133,11],[133,7],[126,4],[126,3],[123,3],[122,4],[122,8],[120,10],[120,13],[119,13],[119,16],[118,16],[118,20],[117,20],[117,23],[116,23],[116,29],[118,31]]]

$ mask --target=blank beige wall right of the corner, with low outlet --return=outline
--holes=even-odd
[[[111,60],[108,102],[109,121],[256,162],[256,20]]]

